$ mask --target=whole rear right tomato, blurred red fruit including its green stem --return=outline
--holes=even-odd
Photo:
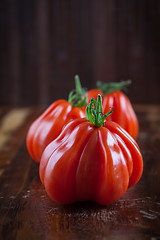
[[[134,139],[136,139],[139,131],[137,116],[134,112],[129,98],[120,90],[131,83],[130,80],[119,83],[101,83],[97,82],[97,89],[88,91],[88,103],[91,98],[96,98],[98,94],[102,95],[104,112],[110,106],[114,107],[114,112],[109,116],[108,120],[118,123],[123,127]]]

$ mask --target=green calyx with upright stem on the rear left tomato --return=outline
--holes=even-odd
[[[78,75],[75,75],[74,79],[76,88],[69,93],[68,102],[73,107],[82,108],[87,105],[87,90],[82,88]]]

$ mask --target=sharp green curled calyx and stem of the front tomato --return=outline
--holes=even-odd
[[[102,97],[100,94],[97,96],[97,101],[94,98],[90,99],[90,103],[86,107],[86,118],[95,127],[102,127],[105,119],[113,112],[111,111],[103,115]]]

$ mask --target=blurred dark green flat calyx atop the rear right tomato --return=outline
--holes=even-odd
[[[97,87],[102,91],[102,93],[109,94],[115,91],[125,89],[128,85],[131,84],[131,82],[131,80],[110,83],[97,82]]]

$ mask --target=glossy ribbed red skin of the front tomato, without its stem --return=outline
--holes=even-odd
[[[102,205],[136,184],[143,159],[135,140],[118,124],[97,127],[87,119],[68,123],[44,150],[40,179],[49,197],[61,204],[92,200]]]

